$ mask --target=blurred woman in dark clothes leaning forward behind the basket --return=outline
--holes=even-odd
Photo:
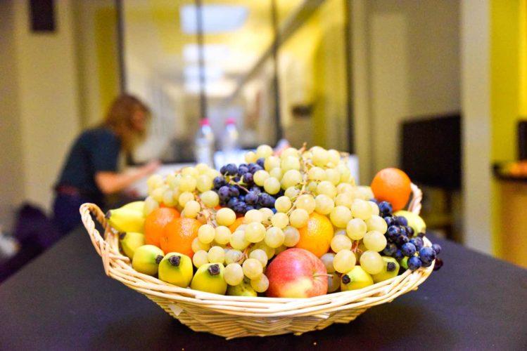
[[[151,161],[133,171],[120,171],[125,156],[146,136],[150,110],[132,95],[116,98],[104,120],[84,131],[73,144],[55,187],[54,222],[62,234],[80,225],[84,202],[104,206],[105,197],[124,190],[159,166]]]

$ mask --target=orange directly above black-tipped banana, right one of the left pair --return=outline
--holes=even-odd
[[[199,227],[201,222],[194,218],[175,218],[163,230],[161,249],[165,253],[179,252],[192,258],[192,241],[198,237]]]

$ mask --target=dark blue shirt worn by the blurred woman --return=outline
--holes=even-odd
[[[103,193],[95,183],[95,174],[118,171],[120,150],[120,139],[109,128],[84,131],[68,154],[58,185],[75,187],[91,201],[100,201]]]

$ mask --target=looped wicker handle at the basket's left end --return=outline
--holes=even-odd
[[[106,275],[109,275],[110,260],[123,260],[129,263],[129,258],[122,256],[119,252],[115,252],[115,249],[112,249],[112,246],[110,243],[108,243],[110,236],[112,239],[115,239],[115,232],[113,232],[110,227],[108,227],[108,223],[106,223],[106,218],[104,217],[104,213],[101,211],[101,208],[99,208],[99,206],[96,204],[86,203],[80,206],[79,211],[82,223],[84,224],[84,227],[86,228],[91,239],[91,244],[94,245],[95,251],[97,251],[99,256],[101,256],[103,259],[104,272],[106,272]],[[99,233],[99,230],[96,229],[91,215],[94,215],[96,220],[105,228],[106,240],[103,239]]]

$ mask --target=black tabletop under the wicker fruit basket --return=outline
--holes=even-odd
[[[224,340],[195,333],[106,277],[77,230],[0,286],[0,349],[527,349],[527,270],[450,241],[445,265],[350,324],[302,336]]]

